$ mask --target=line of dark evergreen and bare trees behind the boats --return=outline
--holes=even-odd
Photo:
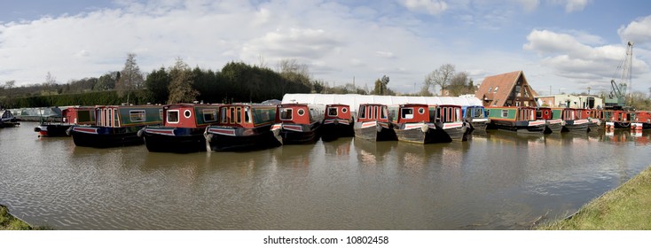
[[[59,84],[48,72],[43,83],[15,87],[15,81],[6,81],[0,87],[0,105],[3,108],[42,107],[49,105],[120,105],[120,104],[176,104],[193,101],[203,103],[262,102],[280,99],[286,93],[325,93],[397,95],[388,87],[389,77],[383,75],[374,81],[373,89],[349,82],[334,86],[323,80],[313,80],[308,66],[294,59],[278,62],[276,70],[268,66],[243,62],[226,63],[220,70],[190,67],[181,58],[173,66],[161,66],[142,73],[136,54],[127,54],[121,71],[112,71],[99,77],[71,80]],[[473,93],[476,87],[467,73],[456,73],[446,64],[427,74],[420,96],[459,96]],[[429,89],[433,89],[430,92]]]

